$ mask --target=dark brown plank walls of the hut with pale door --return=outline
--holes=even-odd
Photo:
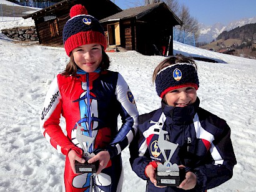
[[[107,24],[103,23],[105,36],[107,40]],[[136,50],[140,54],[154,55],[157,54],[154,48],[157,47],[161,51],[165,46],[167,51],[169,36],[172,34],[172,26],[167,27],[163,24],[157,24],[150,21],[137,21],[127,19],[120,21],[121,47],[127,50]],[[153,46],[154,45],[154,46]],[[170,41],[169,55],[172,55],[172,40]]]

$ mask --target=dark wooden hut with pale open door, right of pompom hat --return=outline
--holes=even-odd
[[[126,9],[100,22],[109,46],[144,55],[172,55],[173,27],[182,25],[164,2]]]

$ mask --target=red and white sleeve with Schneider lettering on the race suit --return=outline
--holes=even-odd
[[[52,81],[44,100],[44,107],[40,118],[41,132],[47,142],[51,143],[59,153],[67,155],[70,150],[75,150],[78,155],[82,155],[81,149],[69,141],[59,126],[61,112],[62,97],[56,77]]]

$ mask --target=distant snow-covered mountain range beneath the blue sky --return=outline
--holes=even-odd
[[[200,24],[200,36],[199,42],[211,42],[212,40],[216,39],[217,36],[223,31],[230,31],[235,27],[245,26],[246,24],[255,23],[256,17],[252,18],[244,18],[240,19],[239,21],[232,21],[227,26],[224,24],[217,22],[213,26],[205,26],[204,24]]]

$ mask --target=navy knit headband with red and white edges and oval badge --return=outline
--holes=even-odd
[[[199,88],[199,79],[195,65],[179,63],[160,70],[155,78],[157,95],[163,98],[167,92],[182,87]]]

